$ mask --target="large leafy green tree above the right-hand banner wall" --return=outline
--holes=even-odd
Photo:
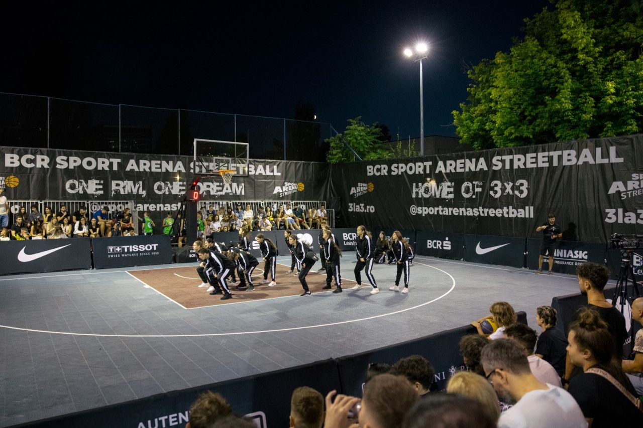
[[[553,0],[525,39],[469,70],[453,118],[476,149],[643,129],[643,11],[631,0]]]

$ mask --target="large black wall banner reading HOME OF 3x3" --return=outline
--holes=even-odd
[[[566,235],[643,234],[643,134],[332,165],[346,224],[538,236],[548,213]]]

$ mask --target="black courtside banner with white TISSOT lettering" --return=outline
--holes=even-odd
[[[138,235],[92,238],[95,269],[172,263],[170,236]]]

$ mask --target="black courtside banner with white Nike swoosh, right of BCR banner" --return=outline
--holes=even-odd
[[[490,265],[525,267],[525,238],[464,235],[464,260]]]

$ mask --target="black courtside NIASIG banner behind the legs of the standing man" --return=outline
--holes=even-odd
[[[527,267],[538,269],[541,239],[527,240]],[[576,266],[584,262],[605,264],[606,245],[593,242],[559,241],[554,249],[554,272],[576,274]],[[543,270],[549,269],[549,256],[543,258]]]

